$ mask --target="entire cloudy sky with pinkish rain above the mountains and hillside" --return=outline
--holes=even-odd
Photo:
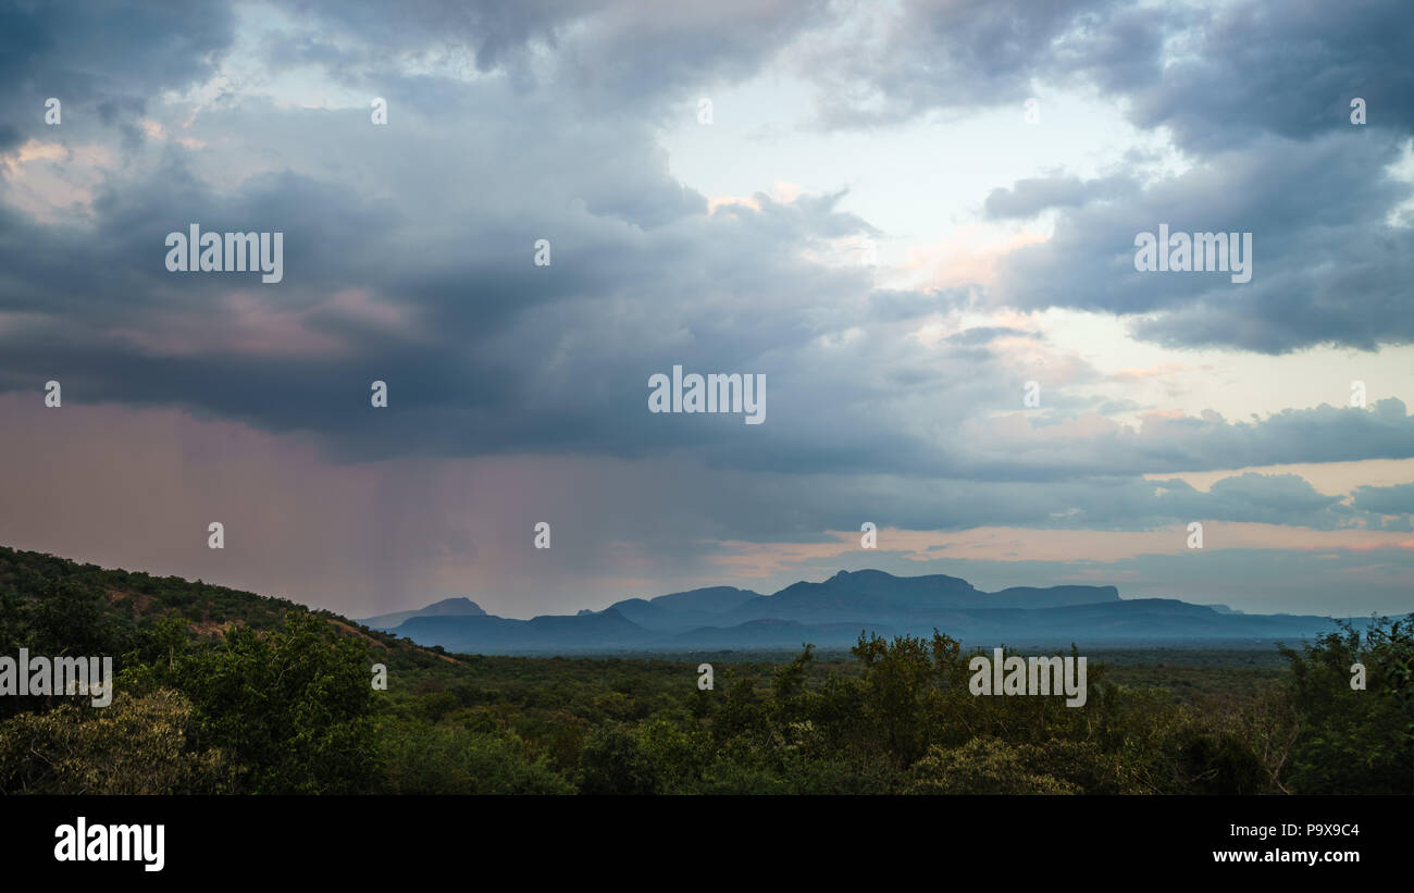
[[[0,1],[0,544],[348,616],[861,568],[1411,610],[1411,45],[1383,0]],[[191,225],[283,277],[171,270]],[[1161,226],[1250,281],[1140,268]],[[674,366],[759,424],[652,411]]]

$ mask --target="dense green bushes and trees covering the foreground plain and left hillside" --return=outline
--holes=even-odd
[[[291,602],[0,548],[0,654],[117,660],[113,702],[0,698],[6,793],[1410,793],[1414,623],[973,697],[970,653],[450,656]],[[1192,654],[1188,656],[1189,658]],[[1280,661],[1281,666],[1277,666]],[[1353,691],[1350,666],[1367,667]],[[375,663],[387,690],[370,685]]]

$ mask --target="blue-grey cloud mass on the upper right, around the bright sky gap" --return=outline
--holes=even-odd
[[[1007,264],[1015,307],[1143,315],[1172,346],[1284,353],[1315,343],[1408,343],[1414,236],[1389,216],[1410,198],[1384,178],[1414,131],[1414,7],[1400,0],[1274,7],[902,4],[864,37],[809,55],[829,127],[1019,103],[1035,82],[1086,83],[1143,130],[1168,129],[1192,170],[1138,191],[1128,174],[1055,174],[994,189],[993,219],[1062,209],[1056,236]],[[1367,123],[1350,123],[1350,100]],[[1257,273],[1135,277],[1133,239],[1253,232]]]

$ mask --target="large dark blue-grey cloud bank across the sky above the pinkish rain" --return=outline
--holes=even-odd
[[[936,346],[906,338],[892,326],[926,308],[926,295],[871,295],[863,270],[805,259],[831,239],[870,232],[839,211],[841,195],[758,195],[756,208],[711,215],[697,196],[684,208],[682,188],[650,164],[646,133],[628,143],[609,127],[621,154],[584,153],[609,137],[592,117],[567,117],[580,137],[563,150],[580,158],[568,167],[543,147],[527,151],[519,133],[468,133],[465,143],[428,148],[363,136],[361,116],[271,122],[277,138],[308,136],[314,151],[318,138],[346,144],[345,181],[287,171],[216,192],[173,150],[148,179],[105,187],[92,229],[3,218],[7,309],[35,321],[0,335],[0,383],[25,390],[61,377],[75,401],[175,404],[311,431],[337,454],[365,459],[670,451],[723,469],[848,475],[887,456],[899,475],[1055,482],[1414,455],[1414,421],[1398,400],[1372,411],[1152,418],[1138,432],[1109,425],[1072,435],[1062,431],[1068,420],[1104,401],[1056,387],[1046,410],[1028,415],[1027,434],[1003,432],[988,418],[1021,411],[1024,382],[1042,373],[1015,367],[997,342],[1042,339],[1001,326],[964,329]],[[448,162],[441,150],[452,146]],[[385,170],[389,154],[413,164],[372,192],[345,185],[361,182],[365,168],[369,177]],[[645,164],[624,164],[635,154]],[[438,177],[421,177],[436,158]],[[488,162],[499,177],[482,174]],[[445,189],[445,181],[467,188]],[[584,184],[600,195],[636,194],[641,203],[612,215],[585,201]],[[165,233],[191,222],[284,232],[284,281],[165,271]],[[537,237],[553,243],[549,267],[532,261]],[[1063,284],[1059,271],[1036,281]],[[396,319],[359,315],[339,301],[349,290]],[[889,302],[909,309],[870,319]],[[277,345],[260,343],[260,325],[280,329]],[[238,338],[242,326],[257,331]],[[846,331],[855,333],[840,336]],[[310,349],[290,346],[304,342]],[[674,365],[765,374],[768,422],[649,414],[649,376]],[[352,411],[375,379],[392,389],[389,411]],[[1099,379],[1082,373],[1072,384]]]

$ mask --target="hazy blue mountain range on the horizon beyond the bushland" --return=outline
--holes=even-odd
[[[1178,599],[1121,599],[1114,586],[1014,586],[983,592],[957,576],[894,576],[840,571],[762,595],[710,586],[602,610],[515,620],[488,615],[469,599],[358,620],[414,643],[461,653],[585,653],[799,649],[854,644],[861,632],[932,634],[969,646],[1270,643],[1311,639],[1332,617],[1251,615]]]

